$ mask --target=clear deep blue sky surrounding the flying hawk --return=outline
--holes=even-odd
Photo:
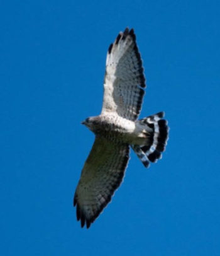
[[[1,1],[1,255],[220,255],[219,1]],[[135,28],[170,139],[89,230],[72,197],[102,105],[106,52]]]

